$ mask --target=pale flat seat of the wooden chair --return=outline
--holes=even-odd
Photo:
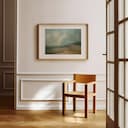
[[[80,97],[80,98],[84,98],[84,97],[85,97],[84,92],[80,92],[80,91],[66,91],[66,92],[64,93],[64,95],[70,96],[70,97],[78,96],[78,97]],[[88,96],[89,96],[89,97],[91,97],[91,96],[96,96],[96,93],[94,93],[94,92],[89,92],[89,93],[88,93]]]

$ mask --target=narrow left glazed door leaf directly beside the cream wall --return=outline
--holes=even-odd
[[[114,10],[114,0],[106,1],[106,94],[107,94],[107,128],[114,128],[114,109],[115,109],[115,10]]]

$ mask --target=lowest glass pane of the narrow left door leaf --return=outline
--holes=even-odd
[[[110,92],[109,98],[110,118],[114,120],[114,94],[112,92]]]

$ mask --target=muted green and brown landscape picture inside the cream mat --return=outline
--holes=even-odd
[[[81,29],[45,29],[45,54],[81,54]]]

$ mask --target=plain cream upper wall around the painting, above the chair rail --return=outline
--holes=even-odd
[[[37,24],[87,23],[88,60],[39,61]],[[105,73],[105,0],[18,0],[17,73]]]

